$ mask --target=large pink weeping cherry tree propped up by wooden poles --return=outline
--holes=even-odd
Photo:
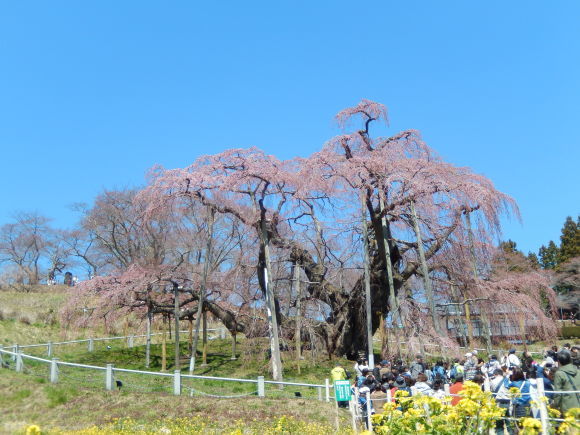
[[[366,350],[362,204],[373,332],[386,322],[411,340],[453,346],[441,307],[471,305],[493,331],[500,316],[494,307],[507,304],[518,312],[533,305],[536,324],[546,326],[529,332],[554,335],[550,304],[542,307],[553,292],[543,278],[499,276],[492,267],[500,218],[518,215],[512,198],[488,178],[443,161],[418,131],[373,136],[375,124],[388,123],[381,104],[363,100],[336,120],[359,128],[307,158],[231,149],[185,168],[151,171],[136,197],[146,215],[178,210],[182,221],[203,207],[236,228],[237,248],[213,268],[207,285],[220,296],[205,298],[205,309],[236,333],[269,333],[272,355],[278,333],[282,340],[300,335],[296,343],[316,341],[329,355]],[[188,243],[203,246],[189,233]],[[184,309],[193,312],[199,282],[182,286],[189,286],[185,305],[191,303]]]

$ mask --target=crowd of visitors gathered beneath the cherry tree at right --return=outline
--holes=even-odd
[[[506,409],[506,416],[539,418],[540,383],[550,406],[562,414],[580,407],[579,365],[580,346],[566,344],[562,349],[553,346],[539,359],[527,351],[518,356],[515,349],[500,358],[491,355],[487,361],[476,350],[467,352],[463,358],[439,360],[434,364],[426,362],[420,354],[410,364],[401,359],[383,360],[372,368],[366,360],[360,359],[354,365],[354,373],[348,373],[337,364],[331,377],[333,381],[351,379],[363,415],[368,409],[367,397],[371,399],[371,412],[375,409],[380,412],[382,405],[389,397],[392,400],[397,390],[440,399],[450,397],[451,405],[457,405],[462,399],[459,393],[463,383],[472,381],[492,392],[498,405]],[[445,384],[449,384],[448,393]],[[520,394],[510,394],[514,387]],[[348,402],[339,402],[339,406],[347,407]]]

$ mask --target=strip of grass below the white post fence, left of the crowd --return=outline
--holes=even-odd
[[[313,406],[313,403],[316,406]],[[349,414],[341,411],[341,425],[349,427]],[[220,400],[173,396],[167,393],[73,387],[69,384],[39,383],[33,376],[0,371],[0,433],[22,433],[28,424],[43,429],[67,430],[104,425],[118,418],[131,418],[143,424],[159,419],[204,418],[218,427],[244,420],[249,433],[255,422],[275,422],[283,415],[299,421],[334,424],[333,403],[305,399],[280,400],[248,397]]]

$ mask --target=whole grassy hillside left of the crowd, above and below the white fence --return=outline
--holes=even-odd
[[[45,287],[29,292],[0,291],[0,344],[42,343],[73,338],[98,337],[99,330],[62,330],[56,315],[67,297],[67,288]],[[187,335],[182,335],[182,372],[187,373]],[[269,378],[267,339],[240,339],[236,359],[231,359],[231,340],[209,341],[208,364],[201,367],[201,354],[195,374],[235,378]],[[151,367],[161,369],[160,337],[152,346]],[[167,371],[174,370],[173,343],[167,343]],[[26,349],[29,354],[45,356],[45,348]],[[143,339],[128,348],[126,341],[96,342],[94,352],[86,343],[54,347],[54,356],[70,361],[104,366],[145,369]],[[284,378],[323,384],[334,362],[307,355],[298,362],[292,353],[284,355]],[[350,362],[344,361],[349,366]],[[8,361],[13,368],[13,362]],[[230,433],[242,428],[243,433],[331,433],[335,428],[336,409],[333,402],[318,401],[318,391],[303,387],[266,386],[266,398],[252,395],[255,384],[226,383],[209,380],[183,380],[182,396],[171,394],[172,379],[144,377],[128,373],[116,374],[123,382],[121,390],[104,390],[102,372],[60,367],[58,384],[48,383],[48,367],[25,359],[25,373],[0,369],[0,434],[24,433],[36,424],[43,429],[86,433],[154,433],[171,427],[172,433]],[[189,394],[193,389],[193,397]],[[246,395],[232,399],[204,396]],[[297,397],[300,393],[301,397]],[[350,415],[340,410],[341,427],[350,427]],[[183,420],[185,418],[185,420]],[[122,419],[118,423],[117,419]],[[129,419],[129,420],[127,420]],[[276,429],[277,428],[277,429]],[[287,431],[288,432],[288,431]],[[56,433],[56,432],[55,432]]]

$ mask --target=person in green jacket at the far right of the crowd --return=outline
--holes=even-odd
[[[580,370],[572,364],[572,355],[567,350],[558,352],[557,358],[559,367],[554,375],[554,406],[564,415],[569,409],[580,408]],[[557,394],[558,391],[572,392]]]

